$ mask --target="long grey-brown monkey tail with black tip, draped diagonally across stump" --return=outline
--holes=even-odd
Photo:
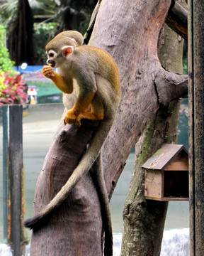
[[[89,144],[89,148],[87,149],[86,154],[84,154],[84,156],[82,157],[77,168],[74,169],[67,183],[65,183],[61,190],[57,193],[57,195],[52,198],[50,203],[48,203],[45,208],[40,210],[40,213],[37,213],[32,218],[28,218],[23,222],[23,225],[26,228],[39,228],[39,224],[43,223],[43,220],[45,220],[47,215],[52,213],[52,210],[55,210],[64,202],[64,200],[67,198],[67,196],[69,196],[69,193],[72,191],[80,178],[88,173],[89,169],[91,169],[91,166],[94,164],[94,161],[96,160],[98,154],[101,151],[101,147],[103,146],[108,132],[111,129],[113,120],[114,117],[111,117],[110,119],[106,119],[105,117],[103,120],[101,120],[100,124],[98,124],[98,128],[96,129],[94,137],[91,139],[91,143]]]

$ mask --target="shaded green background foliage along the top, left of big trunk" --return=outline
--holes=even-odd
[[[98,0],[29,0],[33,15],[40,15],[45,17],[45,19],[47,18],[43,23],[34,24],[33,51],[35,65],[45,63],[47,59],[45,44],[57,33],[69,29],[77,30],[82,34],[86,32],[91,13],[97,1]],[[11,21],[15,22],[17,7],[17,0],[5,0],[4,4],[0,4],[0,23],[4,24],[7,31]],[[1,40],[1,43],[2,42],[4,42],[4,40]]]

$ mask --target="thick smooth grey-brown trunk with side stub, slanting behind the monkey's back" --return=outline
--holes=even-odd
[[[159,31],[170,4],[171,1],[103,0],[96,17],[89,45],[111,53],[118,64],[122,86],[119,111],[103,146],[110,194],[130,151],[159,105],[168,105],[188,93],[188,76],[162,68],[157,55]]]

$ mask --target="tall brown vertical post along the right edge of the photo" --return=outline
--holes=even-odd
[[[203,1],[188,1],[189,178],[191,256],[204,254],[204,26]]]

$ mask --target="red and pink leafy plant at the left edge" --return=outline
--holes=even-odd
[[[4,80],[4,82],[2,82]],[[1,90],[3,88],[3,90]],[[0,73],[0,105],[22,104],[26,100],[21,75],[11,71]]]

